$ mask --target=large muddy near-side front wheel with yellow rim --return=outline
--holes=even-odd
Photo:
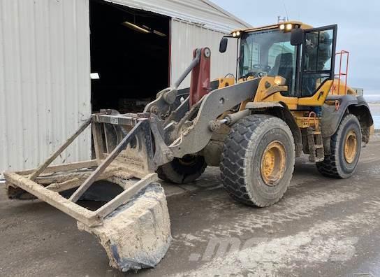
[[[249,115],[231,128],[221,158],[221,181],[233,199],[270,206],[283,197],[293,175],[293,135],[279,118]]]

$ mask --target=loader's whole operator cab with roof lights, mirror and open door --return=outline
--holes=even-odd
[[[334,78],[337,26],[312,29],[301,22],[234,31],[222,39],[238,38],[238,79],[281,76],[286,97],[311,97],[326,80]]]

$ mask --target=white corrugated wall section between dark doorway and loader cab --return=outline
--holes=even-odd
[[[211,78],[224,77],[228,73],[236,72],[236,41],[228,41],[228,49],[225,53],[219,53],[219,43],[225,35],[220,31],[213,31],[189,22],[172,20],[171,37],[171,76],[173,85],[182,72],[189,66],[193,59],[193,50],[200,47],[209,47],[211,50]],[[190,76],[182,83],[181,87],[189,87]]]

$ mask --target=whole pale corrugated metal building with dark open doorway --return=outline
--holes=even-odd
[[[194,48],[211,48],[213,78],[235,73],[236,45],[222,55],[219,41],[245,27],[207,0],[0,0],[0,174],[37,166],[96,104],[154,96]],[[57,163],[90,159],[91,148],[87,130]]]

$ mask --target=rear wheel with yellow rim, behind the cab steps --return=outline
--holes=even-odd
[[[337,132],[331,136],[331,155],[326,155],[323,162],[316,163],[316,168],[323,176],[350,177],[358,165],[361,143],[362,133],[358,118],[355,115],[346,115]]]

